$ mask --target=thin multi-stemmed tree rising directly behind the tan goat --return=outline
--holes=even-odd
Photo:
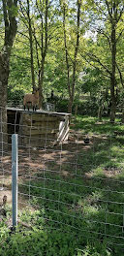
[[[24,20],[25,28],[28,30],[31,76],[33,88],[37,83],[40,89],[40,104],[42,108],[44,93],[43,83],[45,76],[45,63],[49,43],[49,27],[51,26],[51,4],[49,0],[35,0],[20,3],[20,16]],[[27,31],[26,31],[27,34]],[[23,33],[23,36],[26,35]],[[34,71],[34,69],[36,70]],[[36,74],[37,78],[36,78]]]

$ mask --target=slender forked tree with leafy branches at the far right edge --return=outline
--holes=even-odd
[[[94,63],[97,63],[107,73],[110,80],[110,121],[114,122],[116,112],[116,96],[115,89],[117,86],[116,72],[118,72],[121,84],[123,85],[122,73],[117,63],[117,47],[120,38],[123,36],[123,13],[124,13],[124,2],[121,0],[91,0],[94,16],[97,16],[97,24],[95,21],[91,21],[90,27],[95,24],[95,31],[106,39],[108,44],[108,59],[107,63],[102,60],[102,54],[98,57],[98,54],[94,54],[94,51],[86,52],[85,57],[89,57]],[[90,9],[91,9],[90,6]],[[93,17],[93,15],[92,15]],[[98,22],[100,20],[100,22]],[[99,43],[98,43],[99,48]],[[107,48],[107,47],[106,47]],[[106,51],[106,49],[105,49]],[[97,50],[96,50],[97,52]],[[109,60],[110,57],[110,60]]]

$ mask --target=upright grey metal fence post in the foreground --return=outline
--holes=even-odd
[[[12,202],[13,228],[17,225],[18,135],[12,135]]]

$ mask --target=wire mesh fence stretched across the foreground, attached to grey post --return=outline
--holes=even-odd
[[[115,124],[107,134],[109,123],[98,123],[95,133],[88,120],[69,133],[68,114],[9,109],[5,117],[1,109],[0,200],[7,196],[11,206],[13,191],[13,225],[17,210],[40,209],[50,228],[123,251],[123,126],[116,131]]]

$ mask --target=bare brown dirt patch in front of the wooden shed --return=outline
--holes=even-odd
[[[76,170],[81,168],[78,159],[89,156],[89,153],[95,151],[95,146],[101,141],[107,140],[107,137],[92,136],[89,137],[89,144],[84,143],[85,136],[75,131],[71,131],[69,140],[62,144],[51,142],[46,147],[28,147],[19,146],[18,149],[18,183],[29,181],[39,174],[45,172],[60,176],[76,176]],[[89,152],[89,153],[88,153]],[[7,196],[7,203],[12,205],[12,156],[11,149],[3,152],[0,157],[0,205],[3,196]],[[70,166],[70,168],[69,168]],[[106,170],[105,170],[106,174]],[[112,176],[111,171],[107,172]],[[85,173],[84,176],[90,177],[91,173]],[[27,197],[18,194],[18,207],[23,208],[27,205]]]

